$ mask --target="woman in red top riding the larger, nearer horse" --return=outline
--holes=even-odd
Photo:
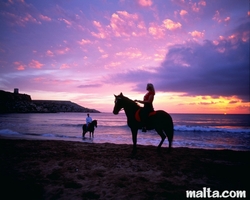
[[[135,102],[144,104],[144,107],[141,109],[141,120],[142,120],[142,132],[146,132],[146,124],[147,124],[147,119],[148,119],[148,115],[150,112],[154,111],[153,108],[153,101],[154,101],[154,95],[155,95],[155,89],[154,89],[154,85],[152,83],[148,83],[147,84],[147,93],[144,96],[143,101],[141,100],[135,100]]]

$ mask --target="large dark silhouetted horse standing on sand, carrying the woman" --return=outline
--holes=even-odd
[[[113,113],[117,115],[121,109],[124,109],[125,114],[127,116],[127,124],[132,132],[132,140],[133,140],[133,151],[132,153],[136,153],[136,143],[137,143],[137,132],[138,129],[142,127],[141,122],[137,121],[136,113],[141,108],[137,103],[133,100],[120,95],[115,95],[115,106]],[[173,136],[174,136],[174,125],[172,117],[163,110],[158,110],[154,113],[154,115],[149,116],[147,129],[152,130],[155,129],[156,132],[161,136],[161,142],[157,147],[157,150],[160,151],[161,145],[164,142],[165,138],[168,137],[169,142],[169,150],[171,150]]]

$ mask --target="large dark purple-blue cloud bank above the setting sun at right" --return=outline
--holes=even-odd
[[[238,96],[249,101],[249,40],[243,41],[246,24],[237,38],[187,42],[169,49],[156,72],[129,71],[112,76],[117,82],[136,82],[135,90],[145,91],[147,82],[156,90],[180,92],[187,96]]]

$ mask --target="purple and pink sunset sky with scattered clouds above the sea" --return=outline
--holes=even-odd
[[[249,0],[0,0],[0,90],[112,112],[249,114]]]

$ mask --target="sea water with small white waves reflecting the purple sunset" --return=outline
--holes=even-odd
[[[98,121],[94,138],[82,125],[86,113],[0,114],[0,138],[69,140],[90,143],[132,144],[126,115],[121,112],[90,113]],[[250,115],[171,114],[174,122],[173,147],[250,150]],[[138,131],[137,143],[157,146],[154,131]],[[168,146],[167,139],[163,147]]]

